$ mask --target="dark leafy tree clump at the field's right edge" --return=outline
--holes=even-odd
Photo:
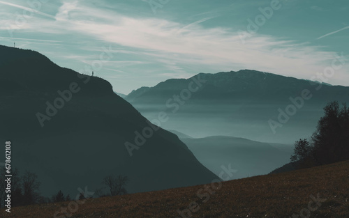
[[[332,164],[349,159],[349,109],[346,104],[329,102],[325,115],[310,139],[299,139],[291,162],[297,169]]]

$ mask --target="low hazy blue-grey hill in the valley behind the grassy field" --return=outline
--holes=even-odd
[[[236,170],[232,179],[267,174],[277,166],[289,162],[292,154],[285,150],[286,146],[272,146],[269,143],[235,137],[181,140],[216,175],[219,176],[223,170],[221,166],[231,165],[231,169]]]

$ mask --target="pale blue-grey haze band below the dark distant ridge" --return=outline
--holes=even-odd
[[[149,120],[157,118],[163,104],[134,104],[135,108]],[[286,106],[288,104],[285,104]],[[195,138],[209,136],[231,136],[256,141],[293,143],[298,138],[309,137],[322,115],[322,108],[304,109],[292,117],[284,127],[273,134],[269,118],[278,116],[279,104],[191,104],[188,102],[177,114],[169,111],[169,120],[161,123],[167,130],[177,130]],[[200,109],[191,111],[191,107]],[[310,117],[310,119],[309,119]]]

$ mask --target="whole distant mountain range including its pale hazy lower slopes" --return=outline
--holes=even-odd
[[[290,144],[311,136],[328,102],[349,102],[349,87],[240,70],[168,79],[125,99],[149,120],[165,112],[169,119],[162,127],[195,138],[227,135]]]

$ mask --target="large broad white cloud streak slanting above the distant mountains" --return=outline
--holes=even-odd
[[[198,64],[216,70],[252,68],[307,78],[324,69],[334,56],[319,47],[273,36],[255,35],[242,45],[232,29],[201,26],[205,19],[188,26],[157,18],[127,17],[84,5],[70,11],[70,26],[64,26],[70,31],[123,47],[147,49],[149,54],[169,60],[172,70],[181,70],[183,64]]]

